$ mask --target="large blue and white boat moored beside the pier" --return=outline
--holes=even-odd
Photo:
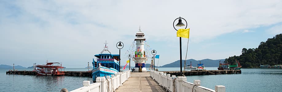
[[[119,72],[119,55],[113,55],[108,51],[108,47],[105,45],[101,54],[94,55],[97,57],[97,62],[93,59],[92,78],[93,82],[96,82],[97,77],[106,77],[117,74]]]

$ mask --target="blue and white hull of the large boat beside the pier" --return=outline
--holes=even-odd
[[[110,76],[117,74],[118,71],[116,69],[113,68],[107,68],[107,67],[95,67],[92,70],[92,79],[93,82],[96,81],[97,77],[106,77],[106,76]]]

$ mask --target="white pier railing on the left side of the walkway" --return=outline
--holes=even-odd
[[[114,92],[119,86],[130,77],[130,70],[118,72],[115,75],[97,77],[96,83],[90,84],[90,81],[83,81],[83,87],[70,92]]]

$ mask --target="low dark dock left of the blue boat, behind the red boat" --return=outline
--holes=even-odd
[[[7,75],[36,75],[35,71],[6,71]],[[88,71],[65,71],[65,76],[85,76],[92,77]]]

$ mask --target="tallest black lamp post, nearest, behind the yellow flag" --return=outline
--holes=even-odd
[[[181,26],[185,26],[183,23],[182,23],[182,20],[181,19],[183,19],[185,22],[186,22],[186,27],[185,27],[185,29],[187,28],[187,21],[184,19],[184,18],[182,18],[182,17],[179,17],[179,18],[176,18],[174,21],[173,21],[173,28],[175,29],[175,27],[174,27],[174,22],[177,20],[177,19],[179,19],[178,20],[178,23],[175,25],[175,26],[179,26],[179,27],[181,27]],[[177,31],[177,29],[175,29],[176,31]],[[181,50],[181,37],[179,37],[179,47],[180,47],[180,75],[182,74],[182,50]]]

